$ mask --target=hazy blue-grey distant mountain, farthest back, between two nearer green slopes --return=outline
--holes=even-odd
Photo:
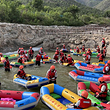
[[[84,4],[86,6],[94,7],[103,0],[75,0],[75,1]]]

